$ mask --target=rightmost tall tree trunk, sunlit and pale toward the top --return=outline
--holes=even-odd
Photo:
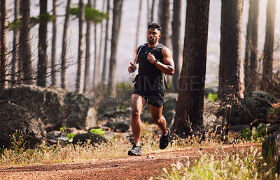
[[[273,51],[274,51],[274,21],[276,0],[267,1],[267,24],[265,29],[265,46],[263,50],[261,89],[269,91],[272,82]]]

